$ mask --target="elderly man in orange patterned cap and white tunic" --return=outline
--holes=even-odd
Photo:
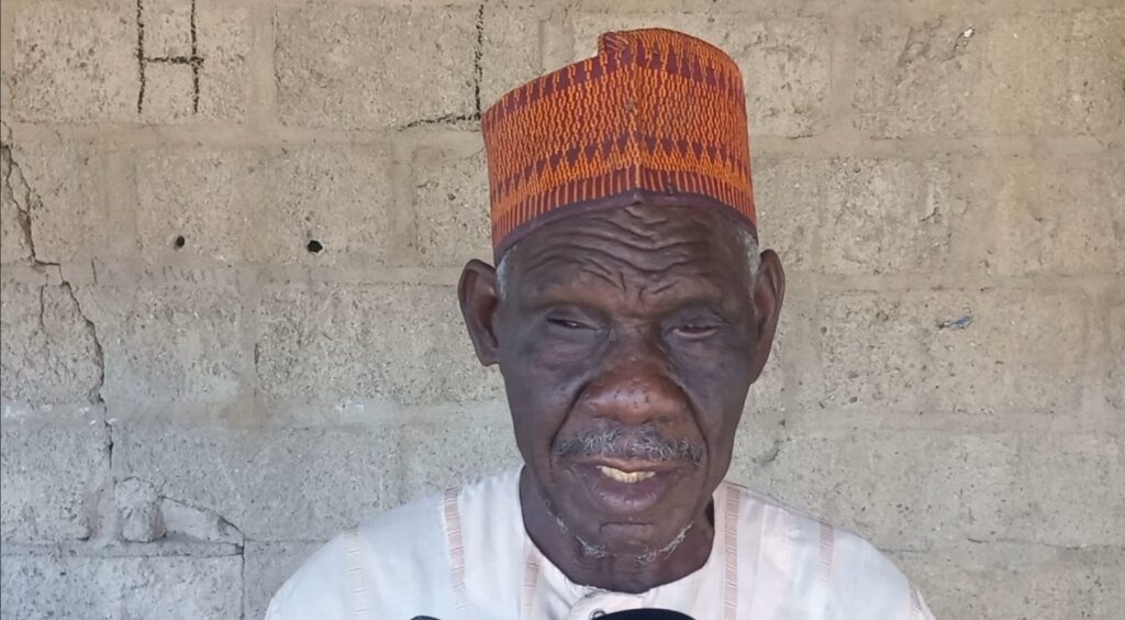
[[[269,618],[930,618],[867,542],[723,482],[785,290],[742,92],[720,50],[634,30],[484,115],[497,267],[459,295],[524,466],[344,533]]]

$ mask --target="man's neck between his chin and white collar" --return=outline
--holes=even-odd
[[[641,593],[685,577],[706,564],[714,540],[711,506],[704,506],[680,536],[642,552],[615,552],[597,540],[583,540],[551,511],[531,479],[520,475],[523,527],[536,547],[572,582],[611,592]]]

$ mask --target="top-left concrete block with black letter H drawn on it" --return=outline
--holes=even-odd
[[[249,99],[249,11],[202,0],[14,7],[15,116],[42,123],[236,120]]]

